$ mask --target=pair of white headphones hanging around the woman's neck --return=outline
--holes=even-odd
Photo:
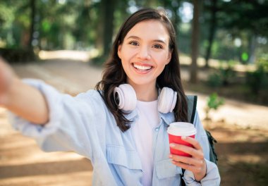
[[[129,84],[122,84],[114,89],[114,101],[118,109],[133,111],[137,104],[135,90]],[[158,111],[162,113],[172,112],[177,101],[177,92],[169,87],[163,87],[159,95]]]

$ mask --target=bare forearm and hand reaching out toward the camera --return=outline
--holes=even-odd
[[[1,56],[0,106],[32,123],[44,124],[49,120],[47,102],[41,92],[23,83]]]

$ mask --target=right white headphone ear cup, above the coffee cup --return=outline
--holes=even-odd
[[[177,92],[169,87],[163,87],[158,102],[158,111],[162,113],[172,112],[177,101]]]

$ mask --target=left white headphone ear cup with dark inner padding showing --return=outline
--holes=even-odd
[[[122,84],[114,89],[114,101],[118,109],[133,111],[137,104],[135,90],[129,84]]]

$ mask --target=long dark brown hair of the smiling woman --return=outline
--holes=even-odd
[[[144,20],[159,20],[169,32],[169,49],[172,51],[171,61],[165,66],[163,72],[157,77],[157,86],[170,87],[178,92],[178,99],[175,106],[174,115],[176,121],[187,121],[187,101],[181,83],[181,70],[178,60],[178,47],[176,45],[176,33],[173,25],[166,13],[163,10],[153,8],[143,8],[133,13],[121,26],[116,39],[114,40],[113,48],[109,59],[106,61],[102,80],[97,83],[95,89],[102,91],[102,98],[105,101],[109,111],[116,119],[116,123],[121,131],[126,131],[130,128],[130,120],[124,116],[126,113],[119,110],[114,101],[113,91],[115,87],[126,83],[126,73],[123,70],[121,59],[118,57],[118,46],[123,43],[129,30],[137,23]]]

